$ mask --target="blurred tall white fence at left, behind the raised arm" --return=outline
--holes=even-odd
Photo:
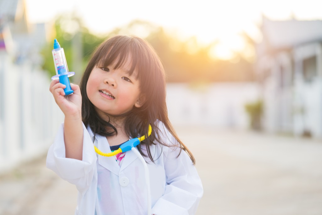
[[[62,112],[49,92],[50,77],[0,53],[0,172],[47,151]]]

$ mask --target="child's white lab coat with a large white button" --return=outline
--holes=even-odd
[[[175,138],[159,122],[164,142]],[[62,179],[75,184],[78,193],[76,215],[146,215],[147,189],[144,166],[133,151],[127,151],[121,166],[114,157],[97,155],[93,132],[83,125],[83,160],[65,158],[63,124],[47,155],[47,167]],[[111,152],[105,137],[96,134],[94,144],[102,152]],[[143,150],[145,150],[145,147]],[[178,158],[178,148],[151,146],[157,160],[148,161],[152,214],[191,215],[197,210],[203,187],[198,173],[185,151]],[[98,181],[99,187],[98,187]],[[104,204],[99,199],[105,194]],[[109,195],[107,195],[109,194]]]

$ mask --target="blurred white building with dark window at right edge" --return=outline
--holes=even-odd
[[[256,73],[263,127],[270,132],[322,137],[322,21],[263,17]]]

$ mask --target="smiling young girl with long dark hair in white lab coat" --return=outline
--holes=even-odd
[[[76,185],[75,214],[146,215],[149,202],[150,214],[195,213],[202,184],[192,153],[169,122],[165,72],[146,41],[108,39],[93,54],[80,87],[71,84],[74,93],[68,96],[64,88],[56,80],[50,84],[65,119],[48,151],[47,167]],[[145,140],[136,148],[114,157],[94,150],[110,153],[141,136]]]

